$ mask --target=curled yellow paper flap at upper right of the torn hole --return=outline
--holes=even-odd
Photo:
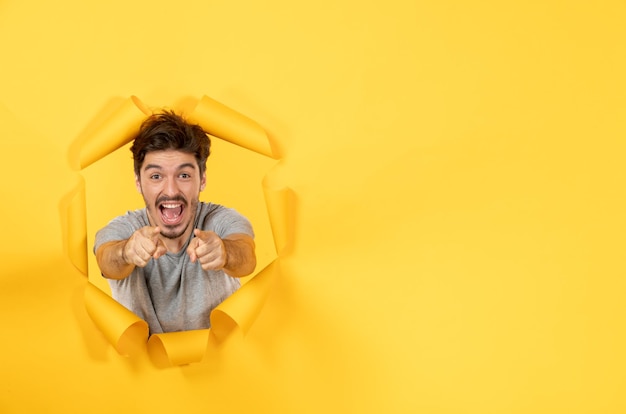
[[[276,159],[267,133],[259,124],[208,96],[202,97],[187,119],[213,136]]]

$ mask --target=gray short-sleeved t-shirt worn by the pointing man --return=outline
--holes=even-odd
[[[106,242],[128,239],[149,225],[145,208],[116,217],[96,233],[94,252]],[[248,219],[212,203],[198,203],[194,228],[214,231],[222,238],[233,233],[254,237]],[[186,252],[191,238],[178,253],[151,259],[124,279],[109,279],[113,298],[145,320],[150,333],[209,328],[211,311],[240,286],[239,279],[223,270],[205,271],[198,262],[192,263]]]

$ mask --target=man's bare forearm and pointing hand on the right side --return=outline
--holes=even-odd
[[[204,270],[224,270],[231,277],[247,276],[254,271],[255,244],[249,235],[233,233],[221,239],[215,232],[199,229],[194,234],[187,254]]]

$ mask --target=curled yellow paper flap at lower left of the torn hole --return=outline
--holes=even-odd
[[[132,355],[148,340],[148,324],[102,290],[87,283],[87,313],[121,355]]]

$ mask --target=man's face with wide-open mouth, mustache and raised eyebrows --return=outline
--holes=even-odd
[[[206,174],[200,174],[193,154],[149,152],[135,179],[151,224],[159,226],[168,239],[186,240],[193,231],[200,191],[206,184]]]

